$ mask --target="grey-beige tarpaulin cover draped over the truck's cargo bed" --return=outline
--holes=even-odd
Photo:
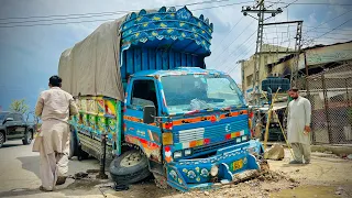
[[[107,96],[123,101],[120,73],[120,18],[101,24],[84,41],[62,53],[58,76],[73,96]]]

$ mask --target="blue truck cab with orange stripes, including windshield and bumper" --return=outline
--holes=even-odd
[[[165,166],[168,185],[182,190],[260,169],[253,154],[262,147],[250,141],[248,107],[221,72],[136,73],[127,89],[123,128],[124,141],[139,145],[154,166]]]

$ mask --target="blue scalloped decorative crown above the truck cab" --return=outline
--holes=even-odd
[[[143,47],[173,48],[179,52],[210,55],[212,23],[193,15],[186,8],[162,7],[158,11],[132,12],[121,25],[122,50]]]

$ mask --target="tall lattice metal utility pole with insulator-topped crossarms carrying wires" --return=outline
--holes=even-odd
[[[256,46],[254,54],[254,70],[253,70],[253,95],[252,99],[254,100],[255,106],[260,106],[260,74],[261,74],[261,53],[263,46],[263,31],[264,31],[264,21],[274,18],[276,14],[282,13],[280,8],[276,10],[267,10],[264,6],[264,0],[256,0],[256,6],[254,7],[242,7],[243,15],[250,15],[257,20],[257,33],[256,33]],[[251,15],[250,13],[256,13],[256,16]],[[265,14],[271,14],[268,18],[264,18]],[[258,112],[260,113],[260,112]]]

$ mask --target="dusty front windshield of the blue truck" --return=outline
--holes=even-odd
[[[161,80],[169,113],[244,105],[239,87],[229,76],[164,76]]]

